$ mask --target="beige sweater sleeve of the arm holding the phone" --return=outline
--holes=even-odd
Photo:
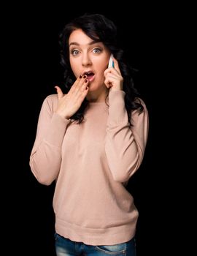
[[[149,120],[147,108],[131,113],[131,124],[125,109],[125,92],[109,92],[109,118],[105,150],[109,169],[115,181],[127,182],[142,163],[147,143]]]

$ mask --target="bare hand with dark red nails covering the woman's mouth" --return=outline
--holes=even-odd
[[[55,113],[69,119],[79,110],[83,100],[88,94],[88,79],[86,75],[80,75],[74,82],[68,94],[63,94],[59,86],[55,86],[58,93],[58,107]]]

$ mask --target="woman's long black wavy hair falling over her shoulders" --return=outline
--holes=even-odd
[[[74,18],[70,23],[66,24],[61,31],[59,44],[61,46],[61,65],[64,68],[64,85],[66,93],[73,85],[76,78],[72,72],[69,61],[69,36],[72,31],[82,29],[82,31],[96,42],[103,42],[109,51],[117,59],[121,75],[123,76],[123,91],[125,91],[125,108],[128,113],[128,121],[131,124],[131,111],[139,109],[142,112],[143,106],[139,100],[139,93],[134,87],[134,80],[131,74],[134,72],[128,64],[123,61],[123,50],[117,45],[117,28],[112,20],[101,14],[85,14],[78,18]],[[77,113],[72,116],[72,120],[78,121],[80,124],[84,118],[85,108],[88,105],[87,99],[84,99]]]

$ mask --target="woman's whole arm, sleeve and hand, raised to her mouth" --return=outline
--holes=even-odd
[[[58,95],[45,99],[39,114],[36,140],[31,151],[30,166],[37,180],[49,185],[61,168],[61,145],[69,118],[80,108],[88,94],[87,76],[80,75],[68,94],[55,86]]]

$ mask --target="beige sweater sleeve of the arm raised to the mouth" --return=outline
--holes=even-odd
[[[61,167],[61,145],[70,122],[54,113],[57,102],[56,95],[50,95],[44,100],[30,156],[32,173],[45,185],[50,185],[58,176]]]

